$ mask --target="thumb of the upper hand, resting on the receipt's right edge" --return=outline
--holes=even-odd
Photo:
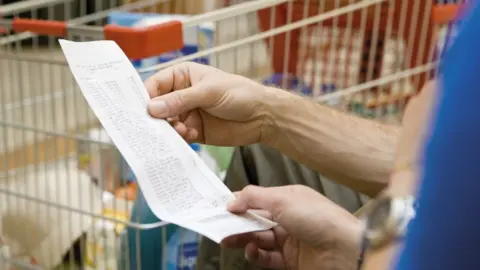
[[[204,92],[194,87],[173,91],[151,99],[147,109],[155,118],[175,117],[205,106],[208,99]]]

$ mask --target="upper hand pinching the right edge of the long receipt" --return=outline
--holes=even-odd
[[[150,114],[169,120],[188,142],[240,146],[266,136],[266,104],[273,90],[250,79],[181,63],[159,71],[145,85],[152,98]]]

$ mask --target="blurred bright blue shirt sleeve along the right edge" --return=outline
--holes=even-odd
[[[478,1],[471,1],[477,2]],[[397,270],[480,269],[480,9],[464,13],[440,67],[417,217]]]

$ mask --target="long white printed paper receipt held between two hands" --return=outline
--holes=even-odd
[[[226,210],[232,192],[168,122],[148,114],[147,90],[115,42],[60,40],[60,45],[85,99],[159,219],[217,243],[276,225],[252,212],[234,215]]]

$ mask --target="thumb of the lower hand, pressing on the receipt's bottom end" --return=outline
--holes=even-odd
[[[236,197],[236,200],[228,205],[228,211],[245,213],[250,209],[260,209],[268,211],[273,219],[278,216],[287,203],[284,191],[278,187],[247,186],[237,192]]]

